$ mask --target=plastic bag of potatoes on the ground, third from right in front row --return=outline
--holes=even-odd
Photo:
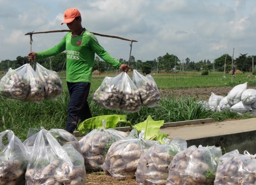
[[[145,151],[138,161],[135,172],[138,185],[165,185],[168,177],[170,162],[173,157],[187,149],[185,139],[164,139],[164,144],[151,146]]]

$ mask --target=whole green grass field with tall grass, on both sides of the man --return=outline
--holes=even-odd
[[[255,85],[254,77],[246,78],[249,73],[236,74],[231,78],[230,74],[223,78],[223,73],[210,73],[201,75],[200,72],[176,72],[168,74],[152,73],[159,89],[190,88],[190,87],[214,87],[214,86],[235,86],[239,83],[248,82],[248,85]],[[107,74],[114,76],[115,73]],[[132,72],[129,73],[132,77]],[[251,75],[251,74],[249,74]],[[100,107],[92,100],[93,92],[99,87],[106,74],[93,75],[88,102],[93,116],[105,114],[125,114],[127,120],[132,124],[142,122],[150,114],[154,120],[164,120],[165,122],[192,120],[212,117],[216,121],[233,118],[251,117],[248,113],[238,114],[236,112],[212,112],[203,109],[197,104],[197,99],[193,97],[163,97],[157,107],[142,107],[139,112],[129,113],[120,110],[109,110]],[[61,73],[63,81],[63,92],[55,100],[44,100],[40,103],[22,102],[19,100],[0,97],[0,131],[11,129],[22,140],[26,139],[29,128],[46,129],[65,128],[67,119],[67,104],[69,95],[66,87],[65,74]],[[124,125],[118,125],[124,126]]]

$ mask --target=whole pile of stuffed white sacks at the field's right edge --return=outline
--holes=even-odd
[[[247,88],[247,82],[234,86],[226,96],[211,92],[208,101],[200,101],[212,111],[230,109],[240,113],[256,113],[256,89]]]

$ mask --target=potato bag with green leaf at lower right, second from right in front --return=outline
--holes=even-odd
[[[166,185],[212,184],[221,155],[220,147],[202,145],[178,152],[170,163]]]

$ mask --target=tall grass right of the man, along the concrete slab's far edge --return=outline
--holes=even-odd
[[[214,118],[215,121],[223,121],[225,119],[236,118],[250,118],[249,114],[239,114],[235,111],[216,111],[213,112],[192,96],[185,96],[175,98],[163,97],[160,103],[156,107],[142,107],[140,111],[135,113],[129,113],[121,110],[108,110],[99,106],[88,98],[93,116],[106,115],[106,114],[123,114],[127,115],[127,120],[132,124],[143,122],[147,119],[148,115],[151,115],[154,120],[164,120],[164,122],[185,121],[194,119]],[[125,126],[125,125],[118,125]]]

